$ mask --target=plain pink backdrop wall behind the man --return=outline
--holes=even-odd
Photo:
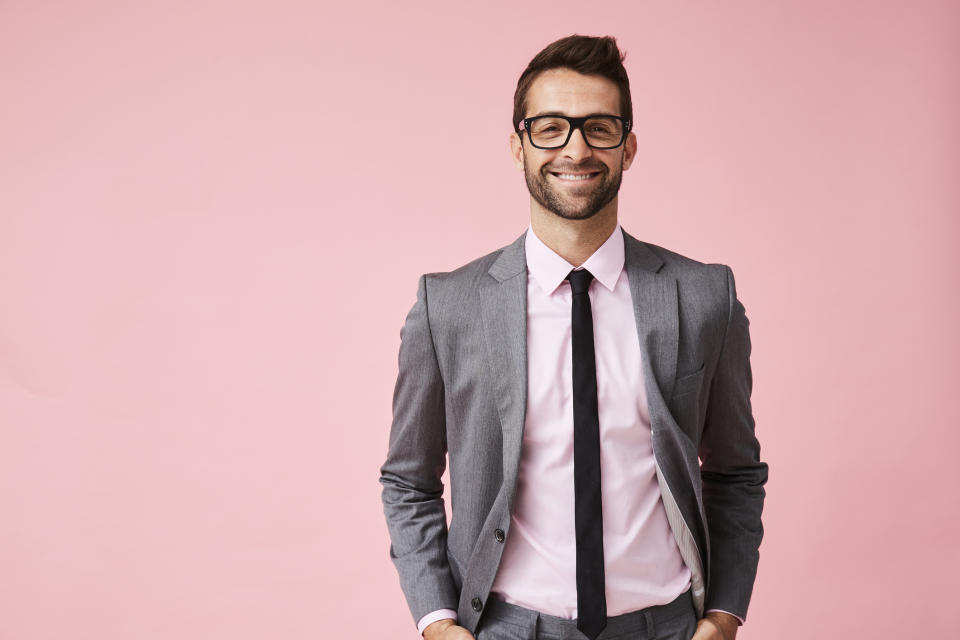
[[[400,327],[526,228],[513,88],[574,32],[628,52],[624,228],[751,319],[739,637],[955,633],[960,4],[152,5],[0,5],[0,638],[418,637]]]

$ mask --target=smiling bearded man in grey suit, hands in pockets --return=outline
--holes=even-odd
[[[763,535],[733,273],[617,221],[637,149],[613,38],[546,47],[514,96],[530,226],[421,276],[386,462],[425,640],[732,640]],[[449,529],[441,475],[449,455]]]

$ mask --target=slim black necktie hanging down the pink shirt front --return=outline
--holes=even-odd
[[[603,512],[600,499],[600,413],[593,311],[586,269],[567,274],[573,290],[573,487],[577,534],[577,628],[594,640],[607,626]]]

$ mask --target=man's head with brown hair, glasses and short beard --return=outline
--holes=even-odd
[[[633,120],[630,84],[623,54],[613,38],[569,36],[548,45],[520,76],[513,114],[510,144],[514,162],[523,169],[530,195],[540,206],[561,218],[583,220],[610,205],[637,147],[636,136],[629,133]],[[609,142],[600,137],[604,122],[587,121],[567,136],[568,124],[557,120],[547,130],[559,133],[556,141],[545,141],[544,134],[531,138],[524,120],[542,115],[618,116],[620,120],[605,122],[623,129],[620,135],[614,131]],[[597,148],[618,141],[621,143],[614,148]],[[542,148],[560,144],[563,146]]]

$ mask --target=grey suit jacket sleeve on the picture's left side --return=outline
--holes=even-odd
[[[443,378],[427,311],[427,278],[400,331],[399,373],[381,497],[390,558],[416,624],[438,609],[456,609],[459,594],[447,560],[447,519],[440,476],[446,468]]]

